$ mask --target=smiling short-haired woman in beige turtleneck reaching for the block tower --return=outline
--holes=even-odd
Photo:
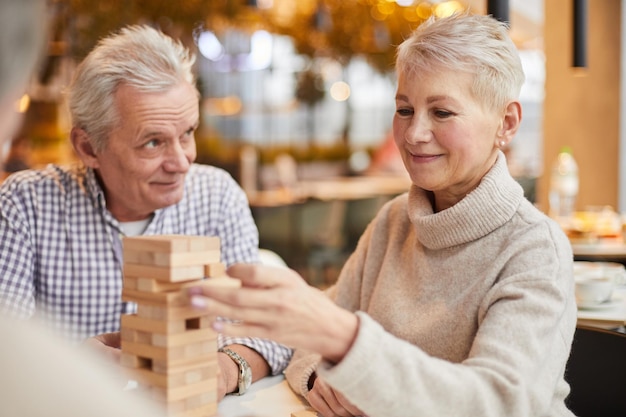
[[[501,149],[524,74],[505,24],[453,15],[397,51],[393,133],[412,181],[326,294],[290,270],[235,265],[239,290],[189,291],[225,334],[299,348],[286,371],[323,416],[571,416],[573,259]]]

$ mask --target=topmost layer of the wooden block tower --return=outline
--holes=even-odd
[[[216,236],[187,236],[187,235],[154,235],[132,236],[122,240],[126,250],[144,252],[202,252],[205,250],[220,249],[220,239]]]

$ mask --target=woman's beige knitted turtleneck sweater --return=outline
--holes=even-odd
[[[502,154],[442,212],[413,186],[378,213],[329,289],[359,316],[350,351],[335,365],[297,351],[287,379],[306,395],[317,369],[369,417],[572,416],[572,260]]]

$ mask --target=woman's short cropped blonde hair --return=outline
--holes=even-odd
[[[524,71],[508,26],[491,16],[431,17],[399,47],[398,73],[441,69],[475,75],[472,92],[487,108],[519,98]]]

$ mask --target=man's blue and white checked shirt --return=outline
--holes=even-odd
[[[183,199],[154,213],[145,235],[219,236],[222,262],[258,262],[258,231],[245,193],[225,171],[192,165]],[[0,187],[0,309],[37,316],[73,341],[119,330],[122,244],[93,170],[49,165],[9,177]],[[220,338],[249,346],[274,374],[291,350],[261,339]]]

